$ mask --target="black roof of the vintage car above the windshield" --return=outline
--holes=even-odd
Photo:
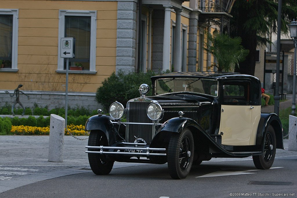
[[[156,80],[158,78],[172,78],[172,77],[205,77],[205,78],[211,78],[211,79],[218,79],[218,78],[222,78],[222,77],[256,78],[251,75],[232,73],[232,72],[173,72],[173,73],[168,73],[168,74],[156,75],[156,76],[151,77],[151,79]]]

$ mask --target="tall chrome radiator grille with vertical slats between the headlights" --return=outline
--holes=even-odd
[[[154,123],[146,115],[146,109],[152,102],[128,102],[127,122]],[[142,138],[146,143],[151,142],[155,135],[154,125],[127,124],[126,142],[134,142],[135,137]],[[135,137],[134,137],[135,136]]]

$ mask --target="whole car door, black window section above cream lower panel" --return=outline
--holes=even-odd
[[[222,134],[222,145],[251,145],[254,128],[252,126],[254,107],[251,105],[251,82],[248,79],[225,80],[222,92],[219,129]]]

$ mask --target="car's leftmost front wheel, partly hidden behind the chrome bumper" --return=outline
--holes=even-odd
[[[106,135],[102,131],[91,131],[89,135],[89,146],[108,146]],[[88,148],[88,151],[100,151],[100,149]],[[105,155],[88,153],[89,164],[96,175],[107,175],[110,173],[114,161],[108,160]]]

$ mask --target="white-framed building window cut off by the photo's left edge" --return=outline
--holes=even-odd
[[[18,9],[0,9],[0,68],[18,71]]]

